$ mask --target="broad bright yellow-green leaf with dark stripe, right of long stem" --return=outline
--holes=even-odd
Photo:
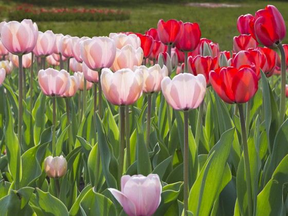
[[[206,164],[189,193],[188,210],[194,215],[209,215],[214,201],[231,180],[227,159],[235,129],[224,132],[219,142],[211,149]]]

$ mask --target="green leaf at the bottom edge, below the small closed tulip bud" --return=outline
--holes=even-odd
[[[66,206],[50,193],[36,188],[36,197],[44,215],[69,215]]]

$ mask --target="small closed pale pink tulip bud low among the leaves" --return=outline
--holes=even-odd
[[[50,178],[61,178],[67,172],[67,161],[62,155],[48,156],[44,160],[44,170]]]

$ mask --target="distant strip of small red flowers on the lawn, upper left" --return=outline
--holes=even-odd
[[[3,8],[1,8],[3,10]],[[87,9],[87,8],[38,8],[33,5],[23,4],[9,11],[9,20],[22,21],[111,21],[128,20],[130,11],[115,9]]]

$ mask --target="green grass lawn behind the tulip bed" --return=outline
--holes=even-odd
[[[63,2],[63,1],[62,1]],[[97,3],[97,1],[95,1]],[[227,1],[226,1],[227,3]],[[104,21],[104,22],[38,22],[40,31],[52,30],[54,33],[70,34],[72,36],[100,36],[109,35],[110,32],[133,31],[144,33],[149,28],[156,28],[159,19],[176,19],[183,22],[197,22],[200,25],[203,38],[208,38],[215,43],[219,43],[221,50],[231,50],[233,47],[233,37],[239,35],[237,30],[237,19],[241,14],[251,13],[264,8],[268,2],[248,2],[237,3],[240,7],[234,8],[204,8],[191,7],[186,3],[145,3],[127,2],[120,4],[117,1],[106,3],[74,5],[64,4],[59,1],[58,7],[87,7],[87,8],[114,8],[130,10],[131,17],[128,21]],[[285,23],[288,25],[288,3],[269,2],[275,5],[282,13]],[[15,6],[15,2],[7,0],[0,1],[0,5],[8,8]],[[52,7],[52,5],[49,5]],[[5,19],[2,13],[2,19]],[[287,37],[284,43],[287,43]]]

